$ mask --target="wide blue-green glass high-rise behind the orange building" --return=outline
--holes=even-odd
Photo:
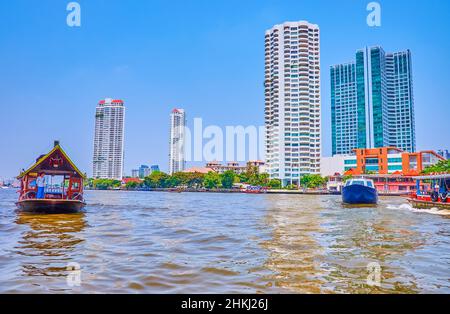
[[[356,52],[356,62],[331,67],[333,155],[355,148],[416,149],[411,52],[381,47]]]

